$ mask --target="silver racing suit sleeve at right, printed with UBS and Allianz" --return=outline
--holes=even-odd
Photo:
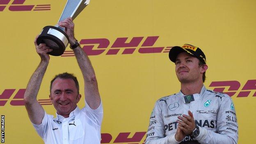
[[[238,123],[232,99],[224,95],[217,112],[217,133],[200,128],[196,138],[201,144],[237,144]]]

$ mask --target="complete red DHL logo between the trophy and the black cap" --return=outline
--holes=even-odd
[[[152,37],[133,37],[126,42],[128,37],[119,37],[110,46],[110,41],[105,38],[101,39],[82,39],[80,41],[82,49],[87,55],[121,55],[133,54],[135,51],[146,53],[169,53],[172,46],[153,47],[159,36]],[[95,48],[98,46],[97,48]],[[121,51],[121,52],[119,52]],[[105,52],[105,53],[104,53]],[[72,50],[66,50],[62,57],[75,56]]]

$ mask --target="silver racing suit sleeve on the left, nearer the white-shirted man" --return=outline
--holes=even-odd
[[[162,119],[162,109],[158,103],[150,116],[149,129],[146,133],[145,144],[178,144],[174,135],[165,135],[165,125]]]

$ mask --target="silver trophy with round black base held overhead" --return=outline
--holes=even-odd
[[[68,0],[59,21],[71,17],[73,20],[80,14],[80,12],[89,4],[90,0]],[[62,55],[69,44],[69,37],[65,33],[65,28],[59,25],[46,26],[37,38],[37,44],[46,43],[46,46],[53,49],[49,55]]]

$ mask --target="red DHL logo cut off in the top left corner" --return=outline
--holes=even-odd
[[[47,5],[23,5],[25,0],[0,0],[0,11],[4,11],[9,5],[9,11],[45,11],[50,10],[50,4]]]

